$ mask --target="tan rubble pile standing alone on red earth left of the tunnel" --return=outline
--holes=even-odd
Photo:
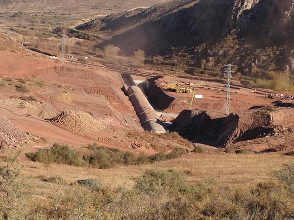
[[[83,111],[67,110],[49,119],[52,123],[77,133],[97,133],[105,125]]]

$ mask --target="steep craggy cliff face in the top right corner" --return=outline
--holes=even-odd
[[[268,37],[290,39],[293,8],[291,0],[237,0],[229,13],[228,31],[236,30],[239,34],[257,31]]]

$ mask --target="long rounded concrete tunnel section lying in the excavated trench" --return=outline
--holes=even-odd
[[[143,129],[154,133],[166,133],[164,124],[159,118],[161,113],[154,110],[141,88],[134,83],[132,76],[120,73],[120,77],[123,82],[124,92],[129,97]]]

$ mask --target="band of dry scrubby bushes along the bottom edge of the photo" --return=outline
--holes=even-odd
[[[289,164],[277,171],[283,174],[281,181],[253,186],[224,187],[211,179],[189,182],[174,170],[147,170],[131,189],[97,190],[100,184],[94,179],[80,179],[78,185],[85,187],[73,184],[42,202],[16,185],[19,173],[8,165],[0,169],[1,219],[294,219],[293,181],[288,181],[294,165]]]

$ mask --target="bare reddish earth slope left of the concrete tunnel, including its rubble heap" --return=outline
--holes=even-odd
[[[97,142],[148,153],[187,147],[144,132],[116,71],[1,50],[0,60],[0,114],[29,133],[29,146]],[[17,91],[19,85],[29,91]]]

